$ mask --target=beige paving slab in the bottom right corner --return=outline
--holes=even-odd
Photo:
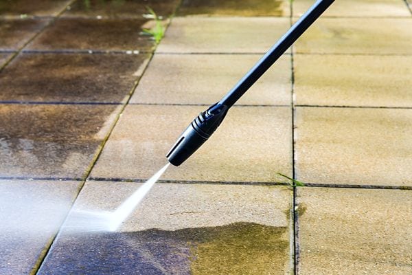
[[[412,274],[411,190],[298,188],[299,274]]]

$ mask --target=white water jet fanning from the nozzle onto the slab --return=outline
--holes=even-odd
[[[161,168],[155,175],[150,177],[142,186],[139,187],[130,197],[124,201],[115,211],[87,211],[76,210],[71,214],[66,230],[74,231],[111,231],[119,229],[124,221],[146,197],[156,181],[165,173],[169,163]]]

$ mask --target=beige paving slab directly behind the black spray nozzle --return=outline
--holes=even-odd
[[[166,153],[205,107],[130,105],[106,143],[92,177],[148,179],[167,163]],[[288,107],[233,107],[214,135],[165,179],[283,181],[290,175]]]

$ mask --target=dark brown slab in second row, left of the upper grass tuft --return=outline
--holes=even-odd
[[[141,35],[148,19],[61,18],[27,45],[28,50],[152,51],[155,42]]]

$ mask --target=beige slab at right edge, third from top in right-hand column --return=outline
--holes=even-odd
[[[296,104],[412,107],[412,56],[294,57]]]

